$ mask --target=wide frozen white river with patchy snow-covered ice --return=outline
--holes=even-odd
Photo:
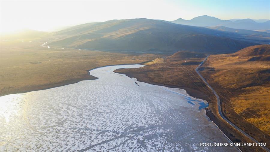
[[[237,151],[185,90],[96,68],[96,80],[1,97],[0,151]]]

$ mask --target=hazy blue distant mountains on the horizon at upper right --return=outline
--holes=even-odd
[[[179,18],[171,22],[190,26],[225,26],[233,29],[248,29],[248,30],[270,29],[269,20],[251,20],[251,19],[220,20],[216,17],[210,17],[207,15],[195,17],[191,20],[184,20],[182,18]]]

